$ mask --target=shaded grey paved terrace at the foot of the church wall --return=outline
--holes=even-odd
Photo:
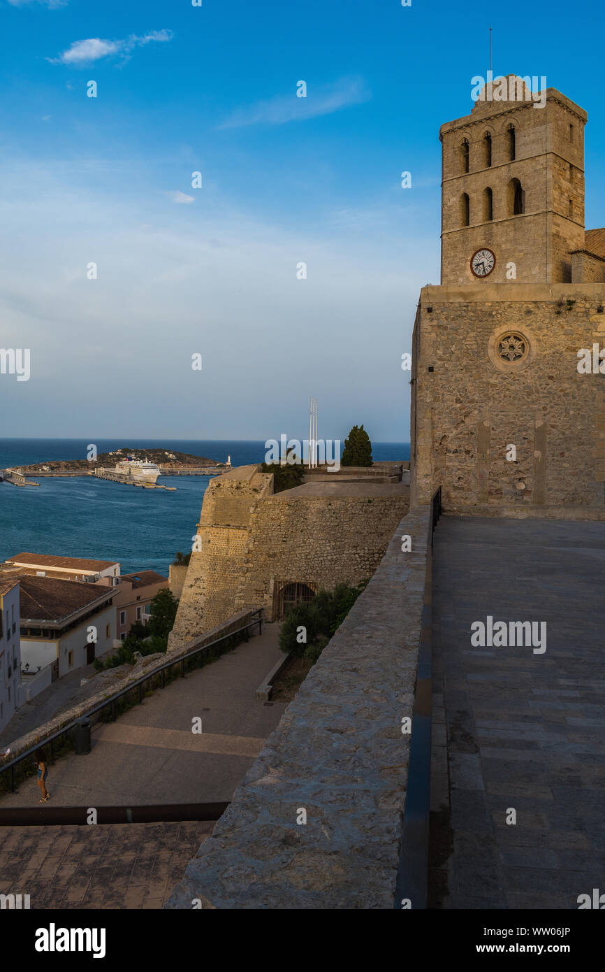
[[[432,907],[577,909],[605,891],[604,580],[602,523],[440,521]],[[546,652],[473,647],[487,615],[546,621]]]

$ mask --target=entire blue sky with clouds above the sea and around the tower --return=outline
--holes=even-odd
[[[588,111],[587,226],[605,224],[596,3],[3,0],[1,17],[0,347],[30,348],[31,378],[0,375],[0,436],[302,437],[314,395],[320,437],[407,440],[439,125],[472,108],[490,22],[496,74],[546,75]]]

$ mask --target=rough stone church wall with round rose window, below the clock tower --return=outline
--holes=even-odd
[[[441,483],[446,509],[605,519],[603,375],[577,369],[581,348],[605,347],[604,299],[595,284],[424,288],[413,503]],[[507,332],[528,347],[519,364],[497,356]]]

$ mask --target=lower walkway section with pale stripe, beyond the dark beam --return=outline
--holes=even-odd
[[[230,800],[286,711],[263,705],[255,690],[282,657],[279,625],[243,642],[218,661],[158,689],[116,722],[98,724],[86,756],[68,755],[49,768],[52,804],[214,803]],[[202,720],[202,732],[191,732]],[[35,780],[0,806],[38,803]]]

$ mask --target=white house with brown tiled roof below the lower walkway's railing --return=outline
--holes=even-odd
[[[98,562],[96,562],[98,563]],[[84,668],[114,647],[114,587],[21,573],[21,664],[52,665],[52,680]]]

